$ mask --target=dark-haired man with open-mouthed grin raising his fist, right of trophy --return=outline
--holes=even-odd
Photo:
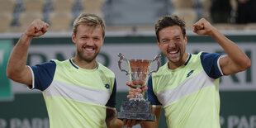
[[[130,88],[128,98],[147,90],[156,121],[141,123],[143,128],[159,126],[164,108],[168,128],[220,128],[219,81],[223,75],[248,69],[251,61],[237,45],[202,18],[193,25],[198,35],[211,36],[225,55],[187,53],[185,22],[178,16],[164,16],[155,24],[157,45],[168,62],[149,77],[147,87]],[[130,86],[130,82],[126,83]],[[127,126],[134,126],[130,121]]]

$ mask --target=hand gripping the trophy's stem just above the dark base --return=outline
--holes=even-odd
[[[148,87],[146,86],[143,86],[142,88],[134,88],[131,86],[130,82],[126,82],[126,85],[130,87],[127,98],[135,98],[137,95],[139,95],[140,92],[143,93],[148,90]]]

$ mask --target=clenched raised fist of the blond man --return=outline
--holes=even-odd
[[[49,27],[49,24],[47,24],[45,21],[36,19],[32,21],[30,26],[28,26],[24,34],[30,38],[42,36],[47,31],[48,27]]]

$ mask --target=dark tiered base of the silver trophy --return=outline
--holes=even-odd
[[[122,102],[121,112],[117,113],[117,118],[155,121],[155,116],[151,113],[150,102],[134,100]]]

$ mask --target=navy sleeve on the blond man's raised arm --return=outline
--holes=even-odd
[[[55,61],[50,60],[50,62],[30,66],[30,68],[33,76],[33,85],[31,89],[44,91],[53,81],[56,69]]]

